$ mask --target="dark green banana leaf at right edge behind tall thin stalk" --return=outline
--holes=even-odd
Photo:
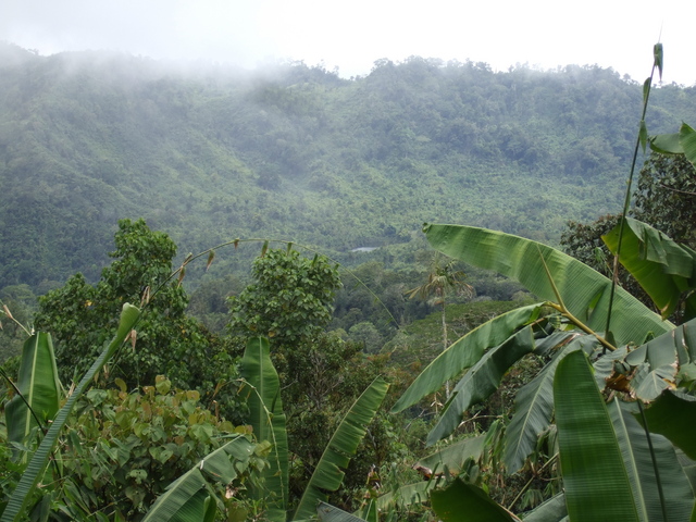
[[[650,296],[663,318],[671,315],[682,293],[696,287],[696,252],[661,232],[626,217],[621,240],[621,264]],[[612,253],[619,247],[620,224],[602,236]],[[696,316],[696,296],[686,300],[686,319]]]

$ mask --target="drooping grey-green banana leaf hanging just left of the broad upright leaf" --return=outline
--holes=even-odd
[[[550,424],[554,414],[554,375],[559,361],[572,350],[583,350],[589,355],[599,346],[593,336],[575,336],[532,381],[520,388],[514,401],[514,415],[505,433],[504,460],[509,473],[522,468],[524,459],[536,447],[538,436]]]

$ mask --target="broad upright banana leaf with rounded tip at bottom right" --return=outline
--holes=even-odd
[[[584,352],[571,351],[558,363],[554,402],[570,519],[637,522],[617,434]]]

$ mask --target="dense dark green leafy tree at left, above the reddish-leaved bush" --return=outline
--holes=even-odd
[[[39,299],[35,324],[55,340],[61,378],[69,382],[87,370],[115,327],[123,302],[144,301],[136,347],[122,349],[105,373],[128,387],[166,374],[175,387],[210,393],[223,376],[214,373],[228,366],[210,363],[225,355],[204,327],[185,315],[184,288],[167,282],[176,245],[166,234],[150,231],[144,220],[121,220],[114,238],[114,261],[97,285],[76,274]]]

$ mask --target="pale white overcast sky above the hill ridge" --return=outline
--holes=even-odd
[[[323,61],[344,77],[420,55],[497,71],[599,64],[643,82],[661,32],[663,80],[692,86],[694,20],[694,0],[0,0],[0,40],[248,69]]]

